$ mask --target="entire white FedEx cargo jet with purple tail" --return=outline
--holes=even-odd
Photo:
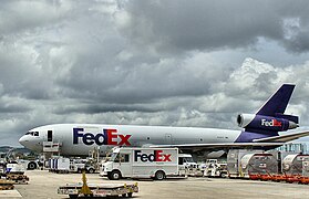
[[[284,143],[308,136],[309,132],[279,135],[298,127],[298,116],[285,115],[295,85],[284,84],[256,114],[237,117],[243,130],[132,126],[102,124],[53,124],[33,128],[19,143],[42,153],[43,142],[61,144],[61,154],[86,156],[94,147],[104,155],[114,146],[178,147],[184,153],[204,156],[229,148],[276,148]]]

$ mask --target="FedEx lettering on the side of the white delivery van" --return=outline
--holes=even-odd
[[[134,161],[172,161],[172,154],[163,154],[163,150],[154,150],[153,154],[142,154],[142,150],[134,150]]]

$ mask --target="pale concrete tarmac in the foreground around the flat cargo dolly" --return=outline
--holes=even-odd
[[[25,172],[30,181],[28,185],[16,185],[16,191],[4,191],[0,198],[69,198],[58,195],[56,189],[66,182],[81,182],[81,174],[52,174],[47,170],[31,170]],[[111,181],[97,174],[87,174],[90,184],[138,182],[140,192],[133,198],[309,198],[309,185],[297,185],[271,181],[251,181],[241,179],[222,179],[189,177],[187,179],[152,180],[119,180]]]

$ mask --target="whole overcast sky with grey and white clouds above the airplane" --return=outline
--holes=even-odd
[[[239,129],[282,84],[309,126],[307,0],[1,1],[0,145],[53,123]],[[309,139],[307,139],[309,140]]]

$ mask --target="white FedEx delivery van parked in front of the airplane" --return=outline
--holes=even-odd
[[[178,148],[114,148],[100,176],[109,179],[154,178],[178,175]]]

